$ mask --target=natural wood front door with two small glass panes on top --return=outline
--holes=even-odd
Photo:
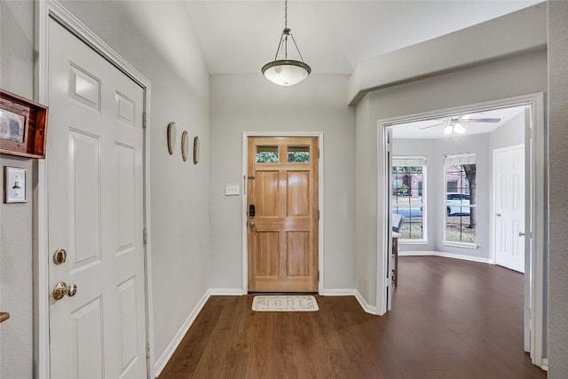
[[[318,290],[318,138],[248,138],[248,290]]]

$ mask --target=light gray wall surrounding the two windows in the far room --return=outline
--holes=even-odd
[[[493,188],[493,149],[519,145],[525,142],[525,116],[519,114],[505,122],[492,133],[464,135],[457,141],[452,138],[406,139],[395,138],[392,143],[394,155],[426,156],[426,196],[428,243],[406,244],[398,242],[399,251],[442,251],[445,253],[492,259],[490,227]],[[396,126],[395,126],[396,128]],[[444,231],[444,155],[476,154],[477,162],[477,249],[461,249],[445,246]]]

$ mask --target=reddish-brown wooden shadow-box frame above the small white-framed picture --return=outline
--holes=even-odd
[[[0,90],[0,153],[45,158],[47,107]]]

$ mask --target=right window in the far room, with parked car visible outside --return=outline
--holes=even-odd
[[[444,242],[476,243],[476,155],[446,155]]]

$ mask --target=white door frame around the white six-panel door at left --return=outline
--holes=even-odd
[[[49,20],[55,20],[71,34],[91,47],[101,57],[137,83],[144,91],[143,104],[143,225],[145,229],[145,297],[146,297],[146,375],[154,378],[154,318],[152,296],[152,241],[151,241],[151,202],[150,202],[150,81],[125,59],[110,48],[103,40],[87,28],[71,12],[55,0],[36,2],[35,45],[38,52],[35,67],[35,93],[37,101],[48,104],[49,93]],[[47,164],[45,160],[34,162],[36,189],[34,191],[34,377],[50,375],[50,288],[48,250],[48,191]]]

